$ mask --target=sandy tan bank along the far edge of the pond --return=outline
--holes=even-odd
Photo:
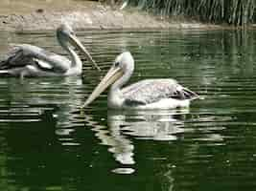
[[[21,0],[21,2],[28,0]],[[38,0],[37,0],[38,1]],[[0,3],[0,31],[32,32],[56,30],[61,22],[67,22],[75,30],[152,30],[152,29],[220,29],[221,26],[199,22],[172,21],[136,9],[120,10],[91,1],[54,1],[55,4],[30,5],[20,10],[13,5]],[[77,3],[79,2],[79,3]],[[52,6],[51,6],[52,5]],[[50,6],[50,7],[49,7]],[[8,9],[9,8],[9,9]],[[19,11],[20,10],[20,11]],[[4,12],[4,13],[3,13]],[[182,19],[183,20],[183,19]]]

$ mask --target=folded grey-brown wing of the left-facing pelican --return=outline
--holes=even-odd
[[[163,98],[195,99],[198,95],[179,85],[175,79],[147,79],[134,83],[122,92],[128,105],[145,105]]]

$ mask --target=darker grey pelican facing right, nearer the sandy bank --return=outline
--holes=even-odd
[[[90,53],[82,46],[80,40],[67,24],[57,29],[59,45],[69,53],[71,60],[56,53],[47,52],[29,44],[14,45],[10,55],[0,62],[0,74],[13,76],[67,76],[81,74],[82,62],[74,51],[77,48],[100,70]]]

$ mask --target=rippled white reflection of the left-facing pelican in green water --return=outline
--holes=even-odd
[[[108,110],[107,125],[98,121],[94,115],[85,115],[85,123],[95,132],[95,136],[101,140],[100,144],[107,145],[108,151],[120,164],[136,163],[135,155],[140,155],[136,150],[134,139],[150,139],[156,141],[175,141],[182,138],[184,132],[193,131],[184,128],[184,120],[187,119],[188,108],[184,110],[161,110],[157,113],[153,110]],[[113,170],[116,173],[133,172],[130,167],[120,166]],[[130,171],[131,170],[131,171]]]

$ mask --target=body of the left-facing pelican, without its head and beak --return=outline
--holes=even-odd
[[[191,91],[183,89],[174,79],[146,79],[120,90],[110,90],[107,104],[118,109],[170,109],[188,107],[190,96]]]

